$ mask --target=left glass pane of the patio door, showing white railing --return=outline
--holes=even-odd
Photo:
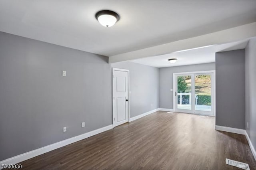
[[[191,110],[191,76],[182,75],[177,77],[178,82],[178,109]]]

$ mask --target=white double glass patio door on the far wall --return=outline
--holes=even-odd
[[[174,73],[174,111],[214,116],[214,71]]]

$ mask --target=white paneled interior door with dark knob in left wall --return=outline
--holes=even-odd
[[[128,122],[129,70],[113,68],[113,126]]]

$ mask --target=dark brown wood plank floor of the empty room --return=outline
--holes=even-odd
[[[214,117],[158,111],[21,162],[23,169],[225,170],[226,158],[256,169],[244,135],[214,130]]]

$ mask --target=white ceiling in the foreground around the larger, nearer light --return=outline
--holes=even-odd
[[[99,10],[120,20],[105,28]],[[0,0],[0,31],[106,56],[256,21],[256,0]]]

